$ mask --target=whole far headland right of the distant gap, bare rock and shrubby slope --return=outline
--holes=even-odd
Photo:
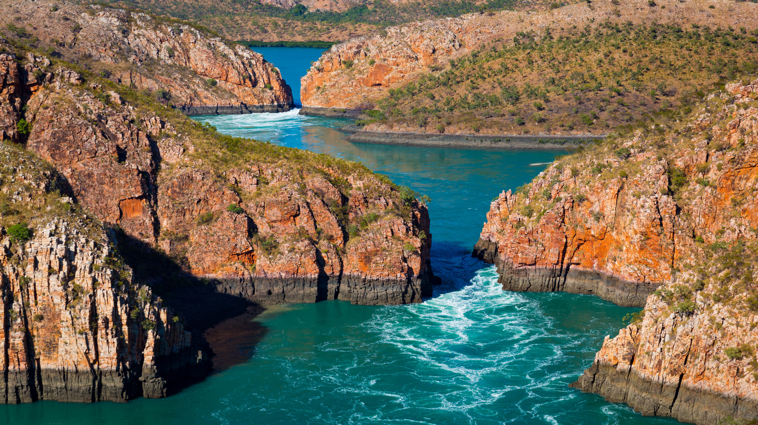
[[[603,1],[388,27],[324,52],[301,79],[301,113],[357,117],[371,134],[356,140],[605,136],[702,98],[724,74],[714,69],[737,75],[708,52],[734,52],[738,67],[756,60],[756,13],[748,3]]]

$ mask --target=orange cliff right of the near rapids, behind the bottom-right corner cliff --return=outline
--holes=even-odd
[[[730,85],[669,116],[679,122],[593,145],[501,193],[475,255],[497,264],[503,289],[644,305],[698,243],[755,237],[756,88]]]

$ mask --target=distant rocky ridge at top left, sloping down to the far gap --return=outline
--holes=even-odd
[[[202,27],[135,10],[70,2],[2,3],[6,36],[152,92],[186,114],[280,112],[293,107],[279,70]]]

